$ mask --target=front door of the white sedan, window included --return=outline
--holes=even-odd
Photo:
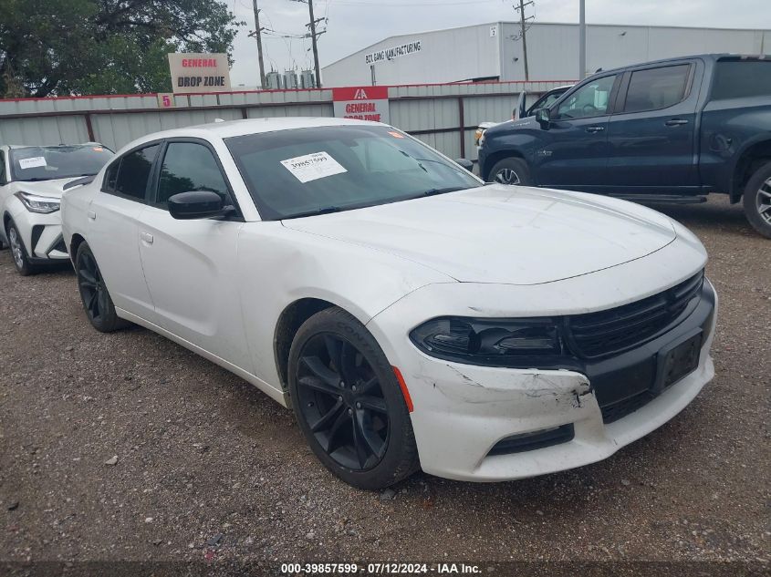
[[[240,218],[178,221],[167,204],[178,192],[214,191],[233,204],[214,152],[202,141],[169,141],[142,213],[140,253],[155,322],[253,373],[237,290]]]

